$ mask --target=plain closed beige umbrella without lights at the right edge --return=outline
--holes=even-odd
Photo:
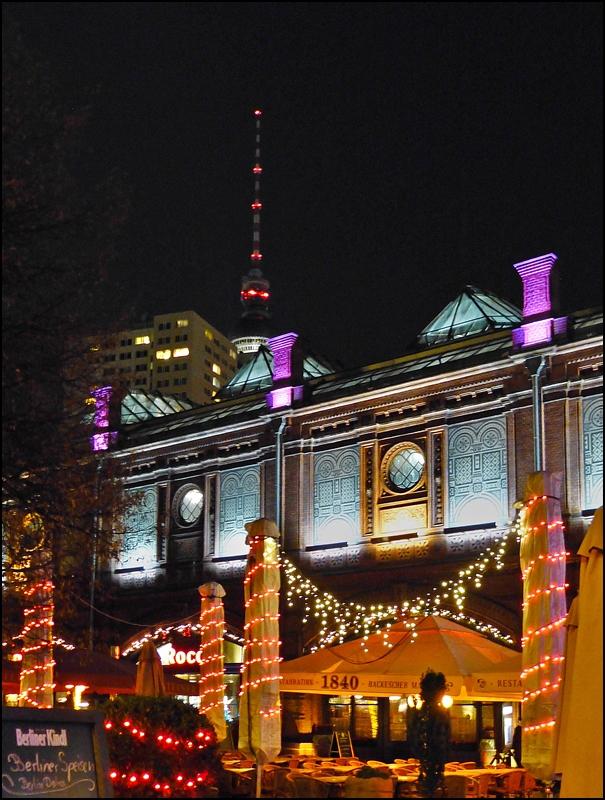
[[[562,773],[560,797],[603,797],[603,507],[578,554],[552,769]]]

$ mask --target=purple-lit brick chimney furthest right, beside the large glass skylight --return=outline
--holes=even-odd
[[[556,260],[554,253],[547,253],[514,265],[523,281],[523,324],[513,330],[517,348],[546,344],[567,329],[566,317],[554,317],[558,310]]]

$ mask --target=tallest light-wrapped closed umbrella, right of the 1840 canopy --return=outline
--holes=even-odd
[[[551,778],[553,729],[561,682],[566,616],[561,479],[532,473],[520,512],[523,577],[523,766]]]

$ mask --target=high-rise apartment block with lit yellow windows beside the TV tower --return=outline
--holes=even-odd
[[[212,402],[237,369],[233,344],[195,311],[159,314],[152,325],[116,334],[100,359],[107,383],[201,404]]]

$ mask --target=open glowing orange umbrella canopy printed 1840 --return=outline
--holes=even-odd
[[[520,654],[444,617],[413,630],[399,622],[281,666],[281,691],[385,697],[417,694],[428,669],[443,672],[456,700],[517,701]]]

